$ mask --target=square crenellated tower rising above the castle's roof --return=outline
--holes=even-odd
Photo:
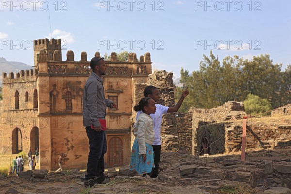
[[[34,65],[37,66],[37,59],[40,50],[45,50],[47,53],[47,60],[53,60],[53,53],[55,50],[58,50],[58,53],[61,53],[61,61],[62,61],[62,46],[61,39],[38,39],[34,40]]]

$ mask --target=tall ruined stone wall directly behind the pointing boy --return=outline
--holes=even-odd
[[[173,73],[165,70],[155,71],[149,75],[147,85],[153,85],[160,90],[159,104],[174,106]],[[185,150],[191,153],[192,129],[191,113],[168,113],[163,115],[161,124],[162,150]]]

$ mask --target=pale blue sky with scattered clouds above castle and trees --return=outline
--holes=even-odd
[[[175,78],[181,67],[198,70],[211,49],[221,60],[270,54],[284,69],[290,8],[289,0],[1,0],[0,57],[33,65],[31,40],[53,37],[63,40],[63,61],[67,50],[76,61],[82,51],[88,60],[96,51],[150,52],[153,68]]]

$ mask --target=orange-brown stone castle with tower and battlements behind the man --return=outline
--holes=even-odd
[[[108,166],[128,163],[135,86],[146,83],[152,72],[150,53],[139,60],[130,53],[128,61],[118,61],[116,56],[113,52],[106,61],[107,75],[103,77],[106,98],[118,104],[118,109],[107,109],[106,114]],[[62,61],[61,39],[39,39],[34,41],[34,69],[3,73],[1,153],[34,153],[39,148],[41,169],[55,169],[61,153],[65,154],[65,167],[86,168],[89,144],[82,100],[84,84],[91,74],[89,61],[86,52],[75,61],[71,50]]]

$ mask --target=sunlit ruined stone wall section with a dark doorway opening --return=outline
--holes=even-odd
[[[226,147],[227,150],[232,149],[228,148],[233,145],[232,136],[227,135],[226,129],[229,128],[229,123],[233,123],[236,119],[246,115],[243,110],[244,105],[242,102],[226,102],[223,106],[213,109],[190,108],[193,129],[192,154],[218,154],[224,153]],[[211,147],[205,150],[210,145]]]

